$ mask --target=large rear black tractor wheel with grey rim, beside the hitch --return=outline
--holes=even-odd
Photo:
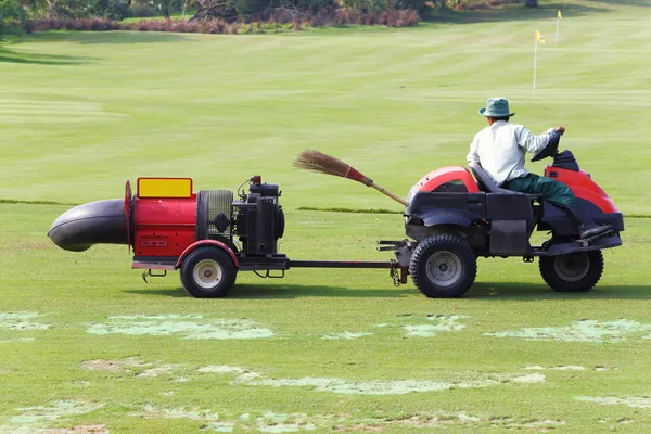
[[[474,283],[477,260],[472,248],[458,235],[426,238],[411,255],[411,280],[430,298],[458,298]]]

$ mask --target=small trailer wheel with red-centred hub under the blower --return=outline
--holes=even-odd
[[[225,297],[235,283],[238,271],[228,253],[215,247],[200,247],[181,265],[181,283],[197,298]]]

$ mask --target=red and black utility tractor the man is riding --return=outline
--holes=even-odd
[[[409,273],[430,297],[457,297],[473,284],[477,257],[539,257],[542,279],[560,292],[592,289],[603,271],[601,250],[622,245],[624,219],[614,202],[580,170],[570,151],[558,152],[560,133],[532,157],[553,157],[545,176],[565,183],[598,224],[612,230],[582,240],[567,213],[539,195],[499,188],[480,166],[444,167],[430,173],[410,192],[405,212],[410,243]],[[472,175],[471,175],[472,173]],[[473,178],[474,175],[474,178]],[[551,237],[532,245],[534,230]]]

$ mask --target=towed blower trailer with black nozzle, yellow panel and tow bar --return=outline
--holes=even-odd
[[[246,186],[247,184],[247,186]],[[138,178],[136,193],[126,182],[123,200],[77,206],[60,216],[48,237],[61,248],[86,251],[94,244],[126,244],[132,269],[142,277],[180,271],[194,297],[224,297],[237,276],[253,271],[283,278],[292,268],[387,269],[395,284],[406,283],[408,264],[390,260],[292,260],[278,252],[285,219],[276,183],[253,176],[230,190],[193,191],[192,178]],[[246,188],[247,187],[247,188]],[[235,195],[237,194],[237,195]],[[399,252],[403,242],[381,241],[379,250]]]

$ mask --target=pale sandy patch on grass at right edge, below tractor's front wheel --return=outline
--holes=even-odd
[[[599,322],[597,320],[579,320],[567,327],[544,327],[521,329],[515,331],[484,333],[485,336],[520,337],[526,341],[561,341],[561,342],[604,342],[615,343],[625,340],[625,335],[651,330],[651,324],[621,319]]]

